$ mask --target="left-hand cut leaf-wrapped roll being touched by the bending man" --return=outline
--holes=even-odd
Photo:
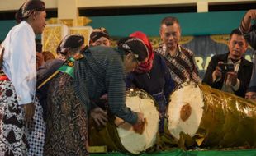
[[[145,130],[142,134],[135,133],[133,126],[129,123],[108,113],[107,126],[98,128],[90,121],[89,145],[107,145],[109,151],[120,151],[126,154],[141,154],[153,148],[159,130],[159,112],[155,104],[154,99],[143,90],[127,91],[126,106],[134,112],[144,113],[147,121]]]

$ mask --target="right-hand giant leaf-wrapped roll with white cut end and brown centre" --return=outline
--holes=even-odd
[[[190,149],[254,148],[256,105],[249,99],[185,82],[168,103],[162,143]]]

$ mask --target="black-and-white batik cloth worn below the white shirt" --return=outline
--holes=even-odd
[[[33,122],[26,123],[12,82],[0,81],[0,155],[43,155],[45,123],[40,104],[35,105]]]

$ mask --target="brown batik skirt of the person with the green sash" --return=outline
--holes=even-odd
[[[88,155],[87,111],[73,91],[73,79],[59,73],[47,100],[45,155]]]

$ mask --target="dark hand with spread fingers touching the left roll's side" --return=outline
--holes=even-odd
[[[105,126],[107,123],[107,112],[103,111],[102,108],[94,108],[90,113],[94,122],[97,126]]]

